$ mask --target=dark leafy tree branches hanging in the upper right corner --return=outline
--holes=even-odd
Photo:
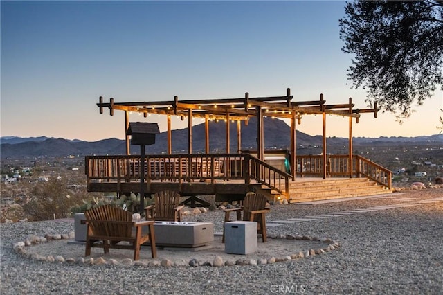
[[[408,117],[443,89],[443,1],[352,1],[340,19],[342,50],[352,53],[348,78],[366,102]]]

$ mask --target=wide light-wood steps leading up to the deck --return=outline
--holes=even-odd
[[[289,203],[312,202],[325,199],[362,197],[392,193],[384,186],[365,177],[306,179],[291,181],[289,185]]]

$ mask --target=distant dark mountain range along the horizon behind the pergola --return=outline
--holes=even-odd
[[[156,136],[156,143],[146,147],[147,154],[161,154],[167,150],[167,132]],[[311,147],[322,145],[322,136],[310,136],[297,131],[296,143],[298,154],[309,153]],[[256,118],[251,118],[248,125],[242,123],[242,149],[255,150],[257,138]],[[290,145],[290,127],[282,120],[264,118],[264,142],[265,149],[287,149]],[[125,154],[125,141],[117,138],[103,139],[101,141],[67,140],[64,138],[48,138],[45,136],[20,138],[5,136],[0,138],[0,154],[2,159],[13,157],[64,157],[69,155],[91,154]],[[327,147],[347,146],[347,138],[328,137]],[[355,146],[358,145],[413,145],[418,143],[442,144],[443,134],[417,137],[379,137],[379,138],[353,138]],[[225,123],[209,123],[209,146],[214,152],[224,152],[226,149],[226,125]],[[192,150],[203,152],[205,147],[204,124],[192,127]],[[188,130],[172,130],[172,150],[174,153],[188,152]],[[299,152],[299,150],[301,150]],[[302,150],[306,150],[303,152]],[[237,125],[230,124],[230,152],[237,152]],[[131,153],[139,154],[140,148],[131,145]]]

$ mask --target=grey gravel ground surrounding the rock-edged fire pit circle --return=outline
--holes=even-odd
[[[395,197],[392,198],[391,196]],[[275,205],[268,221],[443,197],[443,189],[391,198]],[[220,211],[188,217],[215,222]],[[123,267],[41,262],[12,244],[29,235],[69,233],[71,222],[1,224],[1,294],[443,294],[443,200],[269,227],[273,234],[331,238],[341,247],[269,265]]]

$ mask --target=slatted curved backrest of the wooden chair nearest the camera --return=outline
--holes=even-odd
[[[98,206],[85,211],[84,217],[89,222],[89,230],[92,235],[131,237],[132,226],[115,223],[116,221],[132,222],[132,214],[122,208],[111,205]],[[93,222],[93,220],[100,222]]]

